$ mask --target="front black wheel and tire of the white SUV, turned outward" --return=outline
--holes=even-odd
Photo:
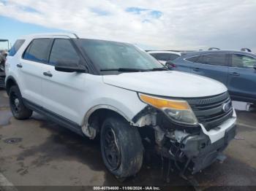
[[[111,133],[114,140],[112,143],[109,141],[112,140]],[[126,120],[121,117],[108,117],[102,124],[100,144],[106,167],[118,179],[133,176],[140,171],[143,163],[140,133]],[[110,150],[115,154],[110,154]]]

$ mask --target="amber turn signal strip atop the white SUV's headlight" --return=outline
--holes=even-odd
[[[176,101],[164,98],[157,98],[151,95],[139,94],[140,99],[146,104],[156,107],[157,109],[179,109],[179,110],[189,110],[189,104],[187,101]]]

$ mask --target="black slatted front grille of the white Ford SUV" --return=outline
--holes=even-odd
[[[233,115],[232,102],[227,92],[208,98],[189,98],[187,102],[206,130],[216,128]],[[230,106],[227,111],[223,109],[224,104]]]

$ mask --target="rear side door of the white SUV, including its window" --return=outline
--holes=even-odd
[[[34,39],[17,63],[23,98],[42,105],[42,64],[48,61],[51,39]]]

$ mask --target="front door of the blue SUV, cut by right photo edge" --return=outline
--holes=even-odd
[[[238,101],[256,102],[256,58],[251,55],[230,54],[228,84],[230,94]]]

